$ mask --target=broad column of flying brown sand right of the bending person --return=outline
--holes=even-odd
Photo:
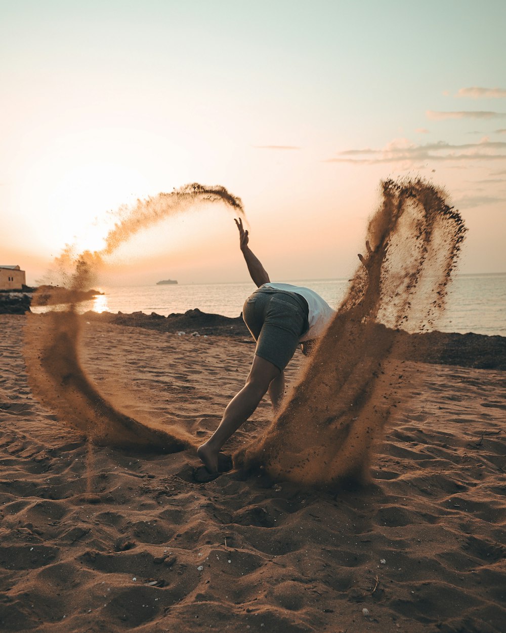
[[[421,179],[381,186],[366,265],[263,441],[235,454],[236,467],[310,486],[371,480],[374,442],[407,389],[410,337],[396,330],[433,328],[466,232],[440,188]]]

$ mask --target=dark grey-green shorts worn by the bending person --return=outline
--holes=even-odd
[[[257,342],[255,354],[281,371],[292,358],[299,338],[309,328],[309,308],[295,292],[259,288],[242,308],[242,318]]]

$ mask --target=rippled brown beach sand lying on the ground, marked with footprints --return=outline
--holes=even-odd
[[[0,315],[0,629],[506,630],[506,373],[408,361],[373,485],[321,492],[193,449],[86,442],[34,399],[25,316]],[[89,320],[83,365],[133,418],[212,432],[253,346]],[[305,362],[297,352],[288,381]],[[269,427],[267,401],[225,449]]]

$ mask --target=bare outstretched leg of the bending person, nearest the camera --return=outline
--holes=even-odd
[[[218,453],[221,447],[252,415],[271,382],[279,375],[280,370],[276,365],[260,356],[254,357],[246,384],[228,403],[218,429],[197,449],[197,455],[208,472],[218,472]]]

